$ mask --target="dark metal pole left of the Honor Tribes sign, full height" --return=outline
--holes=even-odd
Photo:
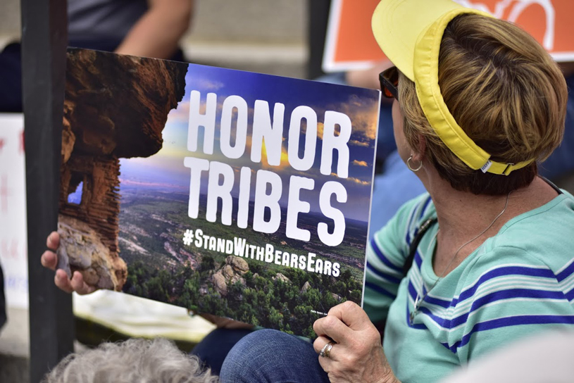
[[[40,265],[56,229],[68,20],[65,0],[22,0],[22,83],[26,152],[30,382],[73,351],[72,296]]]

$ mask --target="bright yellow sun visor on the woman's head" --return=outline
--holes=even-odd
[[[473,142],[444,103],[438,81],[439,50],[444,29],[457,15],[488,13],[451,0],[382,0],[373,13],[375,39],[397,68],[416,85],[425,116],[445,145],[473,170],[499,175],[532,163],[500,163]]]

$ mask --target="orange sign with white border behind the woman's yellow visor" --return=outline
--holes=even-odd
[[[379,0],[333,0],[325,45],[325,70],[353,69],[385,58],[370,31]],[[431,1],[431,0],[429,0]],[[454,0],[520,25],[556,61],[574,61],[573,0]],[[334,31],[335,30],[335,31]]]

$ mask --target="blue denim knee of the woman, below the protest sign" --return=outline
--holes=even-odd
[[[274,329],[261,329],[241,339],[221,368],[223,383],[329,382],[313,344]]]

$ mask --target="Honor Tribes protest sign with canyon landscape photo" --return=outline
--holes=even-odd
[[[380,92],[68,51],[60,267],[295,334],[361,303]]]

